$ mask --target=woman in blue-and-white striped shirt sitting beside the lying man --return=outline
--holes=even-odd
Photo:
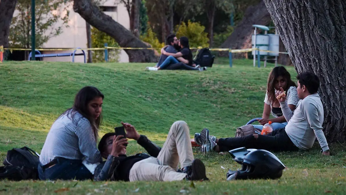
[[[93,177],[82,161],[85,159],[93,164],[102,161],[96,142],[103,97],[96,87],[86,86],[77,93],[73,107],[55,120],[41,151],[40,179],[84,180]]]

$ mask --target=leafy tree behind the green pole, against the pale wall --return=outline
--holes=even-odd
[[[68,3],[68,2],[67,2]],[[12,48],[31,48],[31,1],[18,0],[18,15],[13,16],[9,41]],[[41,47],[51,37],[62,33],[62,27],[68,27],[69,11],[62,0],[35,0],[35,42]],[[62,24],[58,23],[59,20]],[[27,59],[27,54],[25,59]]]

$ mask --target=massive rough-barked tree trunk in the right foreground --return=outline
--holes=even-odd
[[[320,78],[328,140],[346,141],[346,1],[264,2],[297,72]]]

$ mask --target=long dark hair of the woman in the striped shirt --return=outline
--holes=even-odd
[[[92,86],[83,87],[76,94],[72,108],[67,109],[64,113],[62,113],[62,115],[67,114],[67,117],[69,117],[69,114],[71,114],[71,120],[73,120],[74,115],[77,112],[79,112],[81,115],[83,115],[83,117],[87,118],[92,127],[92,131],[95,136],[95,141],[97,142],[98,129],[102,121],[102,112],[100,113],[100,116],[97,119],[94,119],[92,116],[90,116],[88,110],[89,102],[96,97],[102,97],[102,99],[104,98],[104,95],[100,92],[100,90],[98,90],[98,88]],[[62,115],[60,115],[60,117]]]

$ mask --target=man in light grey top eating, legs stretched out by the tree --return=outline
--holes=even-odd
[[[315,138],[317,138],[323,155],[329,155],[329,147],[326,137],[322,131],[324,111],[320,96],[317,91],[320,86],[318,77],[313,73],[300,73],[298,79],[298,97],[300,101],[295,110],[291,111],[281,92],[276,96],[288,124],[283,129],[274,130],[268,135],[247,135],[244,137],[229,137],[216,139],[215,136],[209,136],[209,130],[203,129],[200,135],[202,143],[201,151],[224,152],[238,147],[253,149],[264,149],[269,151],[297,151],[309,150]]]

